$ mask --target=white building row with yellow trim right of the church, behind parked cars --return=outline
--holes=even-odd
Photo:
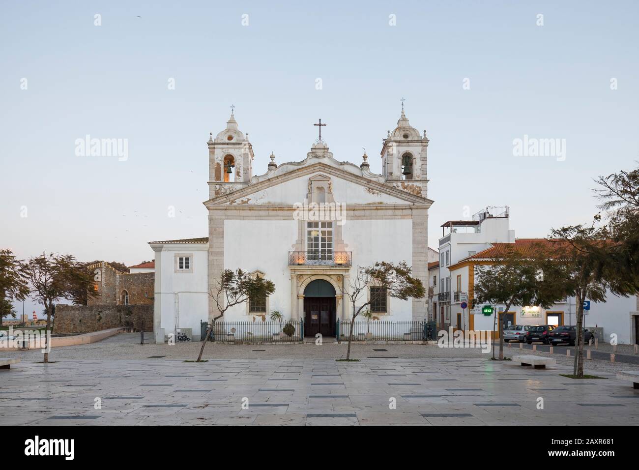
[[[475,309],[462,308],[463,302],[469,307],[472,305],[477,267],[491,263],[511,244],[525,251],[527,247],[544,241],[516,239],[514,231],[509,228],[508,210],[504,209],[487,208],[475,214],[471,221],[449,221],[444,224],[449,233],[440,239],[440,253],[443,256],[440,257],[439,270],[444,280],[440,283],[438,294],[439,325],[443,324],[446,328],[452,326],[454,329],[492,331],[494,316],[484,315],[482,306]],[[462,231],[467,233],[461,233]],[[447,263],[449,258],[445,255],[448,251],[450,263]],[[574,297],[571,297],[548,309],[523,306],[511,307],[507,312],[504,312],[505,305],[491,307],[500,312],[506,325],[574,325],[574,302]],[[587,302],[585,327],[596,331],[600,340],[610,342],[612,338],[616,338],[619,344],[636,344],[639,341],[638,302],[636,295],[619,297],[608,292],[606,302]]]

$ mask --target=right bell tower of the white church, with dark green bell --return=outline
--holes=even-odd
[[[381,173],[386,184],[426,198],[428,142],[426,130],[420,136],[408,123],[402,104],[397,127],[388,131],[381,146]]]

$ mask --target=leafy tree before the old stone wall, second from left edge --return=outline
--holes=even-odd
[[[24,274],[31,285],[31,298],[43,304],[47,313],[47,328],[51,329],[53,307],[61,299],[74,303],[82,300],[82,292],[93,297],[93,274],[84,263],[79,263],[72,255],[40,255],[22,265]],[[45,363],[49,362],[49,353],[44,353]]]

